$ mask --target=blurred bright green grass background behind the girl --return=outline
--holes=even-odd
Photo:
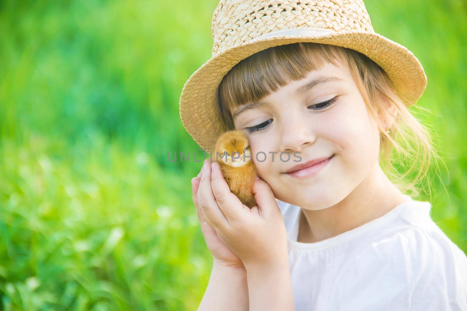
[[[178,100],[211,56],[217,2],[0,0],[1,310],[197,309],[201,164],[167,152],[198,150]],[[432,217],[465,252],[465,1],[365,3],[425,68],[418,104],[447,166]]]

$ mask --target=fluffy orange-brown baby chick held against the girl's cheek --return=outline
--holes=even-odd
[[[256,205],[253,184],[256,178],[255,164],[248,144],[248,136],[242,131],[227,131],[217,140],[212,160],[219,162],[230,191],[249,208]]]

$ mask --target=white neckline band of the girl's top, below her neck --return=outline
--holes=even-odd
[[[406,195],[406,197],[410,198],[410,196],[408,195]],[[367,223],[364,223],[363,225],[357,228],[348,230],[339,235],[330,237],[328,239],[325,239],[319,242],[313,242],[313,243],[297,242],[298,225],[299,225],[300,214],[301,214],[301,211],[300,211],[299,213],[297,213],[293,227],[287,233],[287,242],[288,242],[289,248],[290,249],[301,249],[301,250],[318,250],[318,249],[326,249],[326,248],[335,246],[339,243],[350,240],[355,235],[359,235],[365,231],[370,230],[371,228],[375,228],[377,226],[382,225],[383,223],[393,220],[395,217],[401,214],[407,206],[412,205],[415,202],[417,201],[410,198],[409,201],[399,204],[398,206],[394,207],[388,213],[382,215],[381,217],[378,217],[372,221],[368,221]]]

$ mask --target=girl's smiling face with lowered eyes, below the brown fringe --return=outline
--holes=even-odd
[[[241,108],[248,109],[238,113]],[[258,173],[276,198],[304,209],[339,203],[378,163],[377,123],[342,62],[328,63],[231,113],[235,129],[248,134]],[[319,158],[331,159],[317,173],[287,173]]]

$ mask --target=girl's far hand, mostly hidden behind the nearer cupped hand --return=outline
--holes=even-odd
[[[206,161],[209,163],[209,160]],[[196,215],[198,216],[199,224],[201,225],[201,232],[205,238],[207,248],[214,258],[214,263],[217,263],[221,266],[245,269],[240,258],[235,255],[228,247],[226,247],[226,245],[219,239],[216,231],[214,231],[214,229],[212,229],[211,226],[205,221],[205,215],[199,209],[198,187],[200,176],[201,172],[199,172],[197,177],[194,177],[191,180],[191,191],[193,194],[193,203],[196,207]]]

